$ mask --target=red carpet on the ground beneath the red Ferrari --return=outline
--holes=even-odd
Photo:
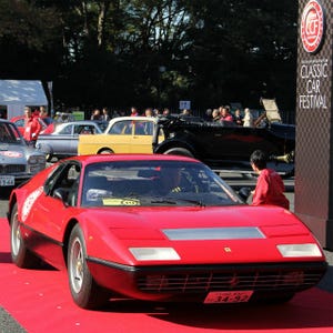
[[[203,306],[139,301],[84,311],[64,272],[20,270],[10,261],[9,226],[0,219],[0,305],[33,332],[333,332],[333,294],[312,289],[284,305]]]

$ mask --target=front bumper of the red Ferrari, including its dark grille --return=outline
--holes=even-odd
[[[122,295],[140,300],[203,301],[211,291],[254,291],[254,296],[293,294],[316,285],[326,262],[236,265],[127,266],[88,259],[94,280]]]

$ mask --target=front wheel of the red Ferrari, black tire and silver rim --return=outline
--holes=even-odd
[[[87,265],[87,248],[83,232],[77,224],[68,246],[68,278],[72,297],[82,309],[98,309],[105,304],[109,293],[93,280]]]

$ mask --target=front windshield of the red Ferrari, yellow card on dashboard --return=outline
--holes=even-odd
[[[82,206],[212,206],[241,204],[235,192],[199,162],[117,161],[85,168]]]

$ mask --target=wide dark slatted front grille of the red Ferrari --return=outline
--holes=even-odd
[[[304,290],[315,285],[322,271],[286,270],[233,273],[148,274],[138,278],[144,292],[201,292],[236,290]]]

